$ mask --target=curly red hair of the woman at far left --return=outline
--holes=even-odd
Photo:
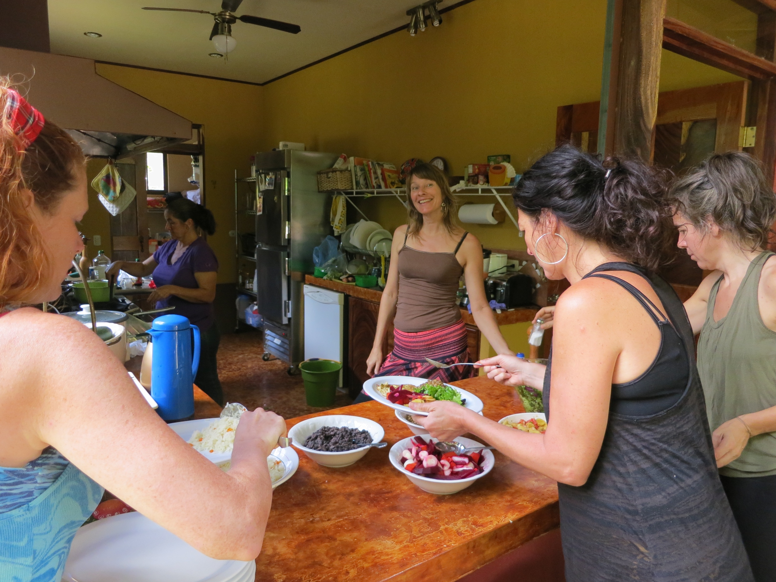
[[[52,213],[61,195],[74,188],[76,168],[85,163],[78,144],[50,121],[19,151],[9,119],[10,85],[8,77],[0,78],[0,310],[29,303],[48,262],[23,190],[33,192],[41,211]]]

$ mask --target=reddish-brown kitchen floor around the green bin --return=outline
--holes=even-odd
[[[285,362],[264,362],[263,353],[263,334],[258,331],[224,333],[221,336],[218,376],[225,401],[239,402],[251,411],[262,407],[284,418],[326,411],[352,402],[345,393],[338,392],[334,406],[307,406],[302,376],[289,376]]]

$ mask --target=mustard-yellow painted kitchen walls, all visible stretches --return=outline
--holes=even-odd
[[[219,224],[210,244],[221,263],[219,282],[234,282],[232,177],[234,168],[248,171],[255,151],[288,140],[397,165],[441,155],[454,175],[466,164],[484,163],[488,154],[511,154],[523,171],[553,147],[558,106],[599,99],[605,12],[606,0],[476,0],[414,38],[395,33],[265,87],[97,67],[106,78],[203,123],[206,204]],[[663,51],[661,91],[733,80]],[[390,230],[405,221],[396,199],[359,204]],[[348,215],[357,220],[352,209]],[[467,228],[486,247],[525,248],[509,219]]]

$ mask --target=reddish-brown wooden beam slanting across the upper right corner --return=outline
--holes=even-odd
[[[663,48],[743,78],[757,80],[776,77],[776,63],[677,19],[663,19]]]

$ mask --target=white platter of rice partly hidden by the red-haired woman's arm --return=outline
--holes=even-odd
[[[240,419],[235,417],[201,418],[196,421],[173,422],[168,426],[202,456],[228,471],[232,464],[234,433]],[[278,447],[267,457],[272,489],[296,473],[299,456],[291,447]]]

